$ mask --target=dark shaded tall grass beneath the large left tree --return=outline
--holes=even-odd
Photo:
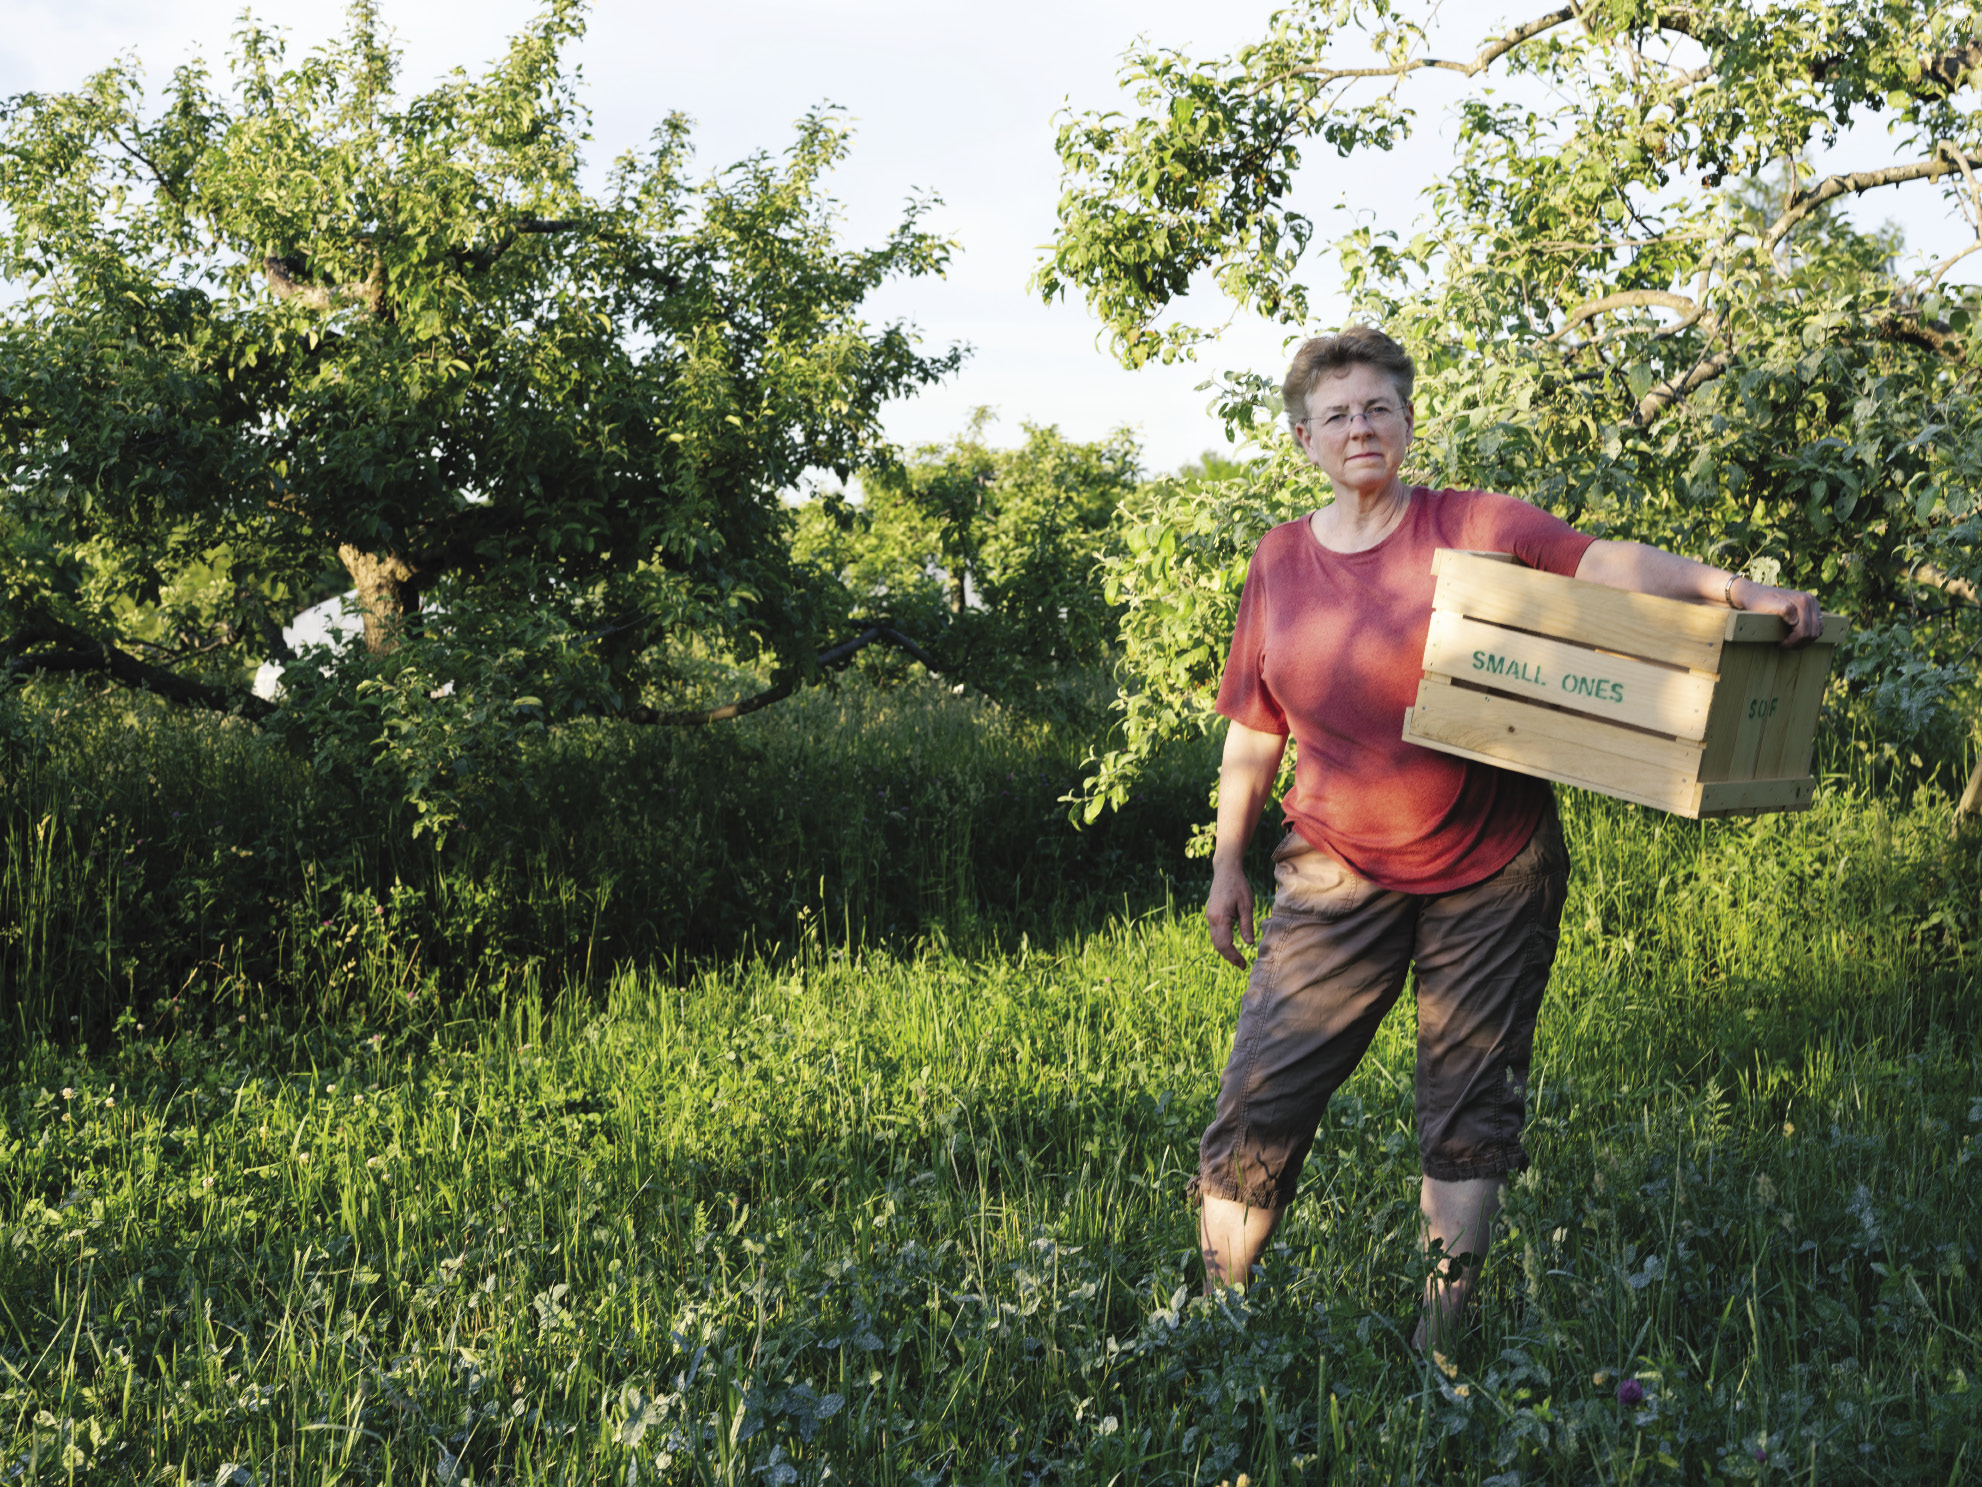
[[[1161,902],[1209,755],[1076,833],[1084,749],[934,684],[848,684],[714,730],[561,730],[436,847],[383,785],[238,720],[44,692],[0,728],[0,1037],[174,995],[470,1009],[614,964]]]

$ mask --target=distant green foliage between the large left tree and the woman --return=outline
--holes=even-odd
[[[846,585],[850,623],[898,625],[943,676],[1027,712],[1082,712],[1114,640],[1102,553],[1142,452],[1128,430],[1076,444],[1050,424],[999,450],[989,422],[979,408],[961,436],[872,472],[858,508],[815,500],[795,551]]]

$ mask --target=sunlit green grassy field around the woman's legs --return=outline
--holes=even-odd
[[[1243,977],[1179,902],[815,934],[549,1013],[529,977],[472,1019],[238,979],[34,1039],[0,1096],[0,1479],[1976,1481],[1946,799],[1566,817],[1536,1168],[1443,1364],[1403,1344],[1403,1009],[1263,1283],[1197,1297],[1181,1188]],[[406,966],[383,914],[323,930],[357,979]]]

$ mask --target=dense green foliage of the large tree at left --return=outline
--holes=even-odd
[[[109,642],[226,706],[355,585],[373,650],[456,605],[509,611],[509,646],[591,636],[605,710],[686,632],[815,674],[832,603],[781,492],[886,464],[882,404],[957,365],[860,315],[949,246],[922,202],[836,242],[832,111],[704,178],[672,115],[587,190],[581,30],[553,0],[486,75],[402,95],[357,4],[299,63],[244,22],[226,87],[188,63],[153,103],[121,61],[6,101],[4,664]]]

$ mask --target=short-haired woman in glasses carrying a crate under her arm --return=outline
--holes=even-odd
[[[1780,615],[1784,644],[1821,629],[1806,593],[1639,543],[1597,541],[1510,496],[1399,478],[1415,412],[1411,357],[1352,327],[1294,355],[1282,399],[1334,502],[1268,531],[1253,555],[1219,688],[1219,769],[1205,920],[1245,966],[1241,868],[1286,738],[1298,742],[1274,912],[1239,1009],[1193,1196],[1209,1287],[1243,1285],[1294,1196],[1328,1096],[1417,968],[1419,1205],[1449,1257],[1413,1346],[1445,1336],[1520,1144],[1534,1019],[1556,954],[1568,855],[1550,787],[1405,744],[1431,625],[1437,547],[1512,553],[1615,589]]]

